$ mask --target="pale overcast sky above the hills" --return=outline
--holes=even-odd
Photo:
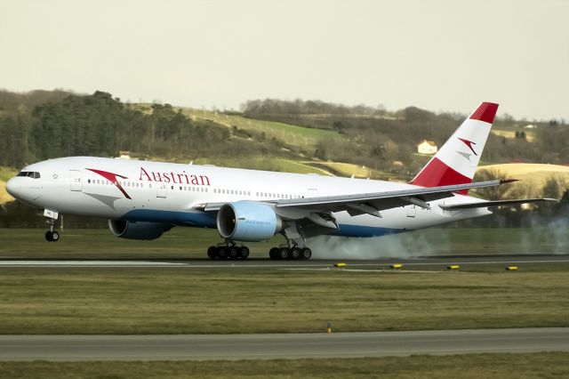
[[[569,1],[0,1],[0,88],[569,120]]]

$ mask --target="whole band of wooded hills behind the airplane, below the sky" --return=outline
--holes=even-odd
[[[294,146],[284,138],[266,138],[233,125],[191,117],[170,104],[129,104],[110,93],[80,95],[65,91],[0,91],[0,165],[21,167],[51,157],[115,157],[119,150],[166,160],[231,157],[287,157],[365,165],[383,172],[413,175],[428,159],[416,154],[423,140],[441,146],[465,115],[436,114],[409,107],[389,111],[324,101],[257,100],[244,103],[240,116],[305,128],[334,131],[316,146]],[[219,120],[218,120],[219,121]],[[502,117],[493,129],[482,161],[569,163],[569,127],[563,120],[530,122]],[[305,129],[306,130],[306,129]],[[262,167],[261,167],[262,168]]]

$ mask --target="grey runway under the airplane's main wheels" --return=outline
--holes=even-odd
[[[223,260],[212,261],[207,258],[140,258],[140,259],[87,259],[87,258],[49,258],[49,259],[25,259],[0,257],[0,267],[44,267],[44,268],[241,268],[241,269],[329,269],[334,263],[345,262],[348,270],[381,270],[388,269],[393,263],[402,263],[409,269],[444,269],[450,264],[468,265],[519,265],[528,267],[534,265],[555,264],[569,268],[569,255],[566,254],[478,254],[478,255],[437,255],[417,256],[411,258],[383,258],[374,260],[318,260],[310,261],[273,261],[267,258],[249,258],[247,260]]]

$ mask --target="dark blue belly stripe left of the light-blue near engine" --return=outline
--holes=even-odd
[[[121,217],[121,220],[131,222],[161,222],[179,226],[195,226],[201,228],[216,228],[214,214],[202,212],[173,212],[156,211],[153,209],[135,209]]]

